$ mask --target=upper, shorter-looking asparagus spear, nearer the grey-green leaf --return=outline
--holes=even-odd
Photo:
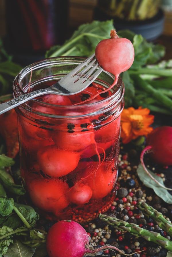
[[[166,231],[169,236],[172,237],[172,224],[163,217],[163,214],[161,212],[158,212],[152,206],[149,206],[145,202],[139,202],[138,208],[142,211],[144,215],[155,220],[158,226]]]

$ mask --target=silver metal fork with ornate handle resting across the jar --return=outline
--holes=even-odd
[[[95,54],[93,54],[52,86],[38,89],[1,103],[0,114],[40,95],[74,95],[79,93],[88,87],[101,73],[103,68],[98,66]]]

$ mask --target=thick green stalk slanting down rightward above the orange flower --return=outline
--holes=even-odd
[[[131,75],[131,78],[133,79],[136,88],[143,89],[151,97],[155,98],[157,102],[162,103],[164,107],[169,109],[169,111],[172,111],[172,100],[168,96],[159,93],[157,89],[152,87],[138,75]]]

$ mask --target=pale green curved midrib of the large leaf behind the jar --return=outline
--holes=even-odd
[[[75,37],[74,39],[71,39],[67,43],[64,43],[64,45],[62,45],[62,47],[60,47],[58,50],[56,50],[54,53],[52,53],[49,57],[56,57],[56,56],[62,55],[63,52],[70,49],[71,45],[73,45],[75,42],[77,42],[80,38],[82,38],[84,36],[91,36],[91,37],[95,37],[95,38],[98,37],[100,40],[105,39],[102,36],[95,35],[92,33],[82,33],[82,34],[78,35],[77,37]]]

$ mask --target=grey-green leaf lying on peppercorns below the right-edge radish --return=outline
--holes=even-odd
[[[163,186],[164,182],[161,177],[157,176],[150,170],[148,170],[150,174],[158,181],[160,182]],[[167,204],[172,204],[172,195],[167,191],[167,189],[162,188],[159,186],[150,176],[144,171],[142,164],[138,165],[137,168],[137,174],[142,183],[147,186],[148,188],[152,188],[157,196],[159,196],[161,199],[164,200]]]

